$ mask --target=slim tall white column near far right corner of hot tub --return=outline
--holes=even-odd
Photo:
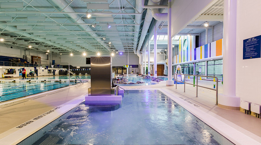
[[[171,37],[171,0],[168,0],[168,80],[166,86],[174,86],[172,80],[172,37]]]

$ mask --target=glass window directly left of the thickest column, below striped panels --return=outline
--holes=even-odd
[[[218,77],[222,79],[223,75],[223,59],[208,61],[208,76]],[[208,79],[213,79],[209,77]]]

